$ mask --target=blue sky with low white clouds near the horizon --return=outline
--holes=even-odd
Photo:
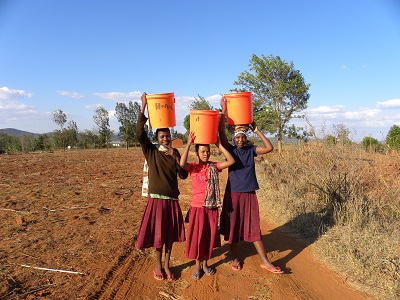
[[[398,0],[0,0],[0,128],[53,131],[61,109],[92,130],[101,105],[117,132],[116,102],[174,92],[183,133],[190,101],[219,108],[252,54],[293,61],[317,135],[400,125]]]

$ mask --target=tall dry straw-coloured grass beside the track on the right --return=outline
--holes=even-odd
[[[359,289],[398,299],[398,156],[323,143],[285,150],[258,164],[261,213],[293,236],[315,242],[317,255]]]

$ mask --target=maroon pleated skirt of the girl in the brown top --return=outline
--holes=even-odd
[[[184,241],[185,225],[179,201],[147,196],[136,248],[162,248],[164,244]]]

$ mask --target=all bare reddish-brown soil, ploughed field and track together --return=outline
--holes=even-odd
[[[194,281],[194,261],[175,243],[177,280],[155,280],[154,250],[134,247],[142,173],[139,149],[1,155],[0,299],[371,299],[269,220],[263,242],[284,274],[261,269],[249,243],[243,269],[232,270],[223,243],[210,260],[216,274]],[[185,213],[190,179],[179,184]]]

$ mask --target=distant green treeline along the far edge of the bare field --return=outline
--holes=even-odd
[[[136,123],[140,114],[140,105],[137,102],[128,104],[117,103],[115,108],[115,116],[120,123],[119,146],[132,147],[138,145],[136,137]],[[114,134],[110,129],[109,112],[98,107],[94,111],[93,122],[95,127],[93,130],[80,131],[76,122],[68,121],[67,115],[61,109],[57,109],[52,114],[52,120],[57,124],[59,129],[54,130],[50,134],[27,134],[15,136],[0,132],[0,154],[1,153],[18,153],[33,151],[48,151],[58,149],[95,149],[113,147],[111,137]],[[150,139],[154,138],[154,132],[145,125]],[[181,138],[185,143],[187,137],[185,134],[179,133],[171,129],[172,138]]]

